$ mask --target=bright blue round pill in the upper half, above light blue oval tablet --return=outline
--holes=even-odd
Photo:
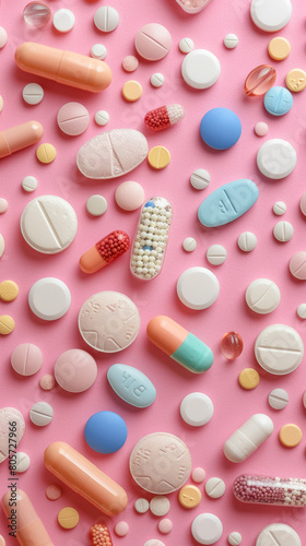
[[[210,147],[227,150],[239,140],[242,122],[229,108],[213,108],[203,116],[200,133]]]

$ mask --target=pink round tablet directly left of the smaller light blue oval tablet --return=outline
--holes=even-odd
[[[94,384],[97,376],[95,359],[81,348],[60,355],[55,365],[58,384],[68,392],[83,392]]]

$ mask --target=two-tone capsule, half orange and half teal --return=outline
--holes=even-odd
[[[154,345],[193,373],[202,373],[212,366],[210,347],[169,317],[151,319],[146,334]]]

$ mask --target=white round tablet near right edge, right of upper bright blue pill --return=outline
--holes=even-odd
[[[296,165],[296,152],[290,142],[282,139],[268,140],[257,154],[260,173],[273,180],[289,176]]]

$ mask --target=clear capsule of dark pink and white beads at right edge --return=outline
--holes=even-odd
[[[242,474],[233,491],[242,502],[306,507],[306,479]]]

